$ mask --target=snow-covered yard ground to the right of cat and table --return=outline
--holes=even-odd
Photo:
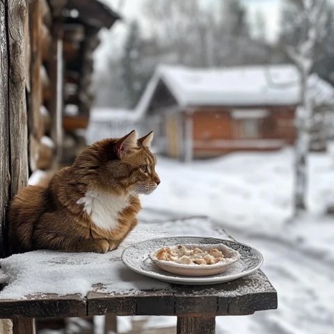
[[[334,331],[334,218],[324,215],[334,193],[334,154],[310,154],[309,212],[295,221],[292,166],[292,149],[192,164],[158,157],[161,184],[142,198],[141,219],[209,216],[264,254],[263,270],[278,291],[278,310],[218,317],[218,334]]]

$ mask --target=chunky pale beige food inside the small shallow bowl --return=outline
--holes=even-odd
[[[223,260],[223,258],[223,253],[217,248],[202,250],[200,248],[189,249],[186,246],[177,245],[173,249],[164,247],[157,252],[158,260],[173,261],[181,264],[215,264]]]

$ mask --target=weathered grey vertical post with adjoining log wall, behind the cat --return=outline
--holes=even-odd
[[[54,13],[62,1],[0,1],[0,257],[6,248],[6,212],[13,196],[37,170],[51,173],[56,163],[56,120],[61,103],[54,93],[61,81],[51,69]]]

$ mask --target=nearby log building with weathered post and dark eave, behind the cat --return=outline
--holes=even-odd
[[[118,18],[97,0],[0,1],[0,234],[10,198],[47,183],[67,132],[88,123],[97,33]]]

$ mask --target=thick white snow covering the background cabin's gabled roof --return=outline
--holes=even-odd
[[[138,114],[148,109],[160,80],[180,106],[293,105],[300,102],[299,72],[294,65],[207,69],[159,65],[138,102]],[[317,86],[321,91],[326,86],[327,97],[334,95],[333,87],[319,77]]]

